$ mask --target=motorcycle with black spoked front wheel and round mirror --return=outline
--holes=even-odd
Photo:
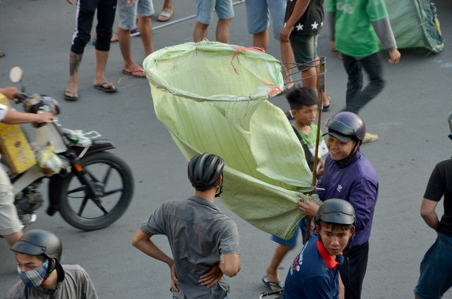
[[[10,80],[18,83],[23,71],[14,67]],[[15,96],[29,113],[57,115],[54,99],[22,92]],[[106,152],[116,146],[109,140],[99,140],[100,134],[61,128],[59,121],[32,123],[36,142],[31,143],[33,163],[22,173],[8,174],[13,184],[15,205],[23,224],[35,221],[35,211],[44,203],[40,184],[49,178],[47,214],[60,212],[75,228],[94,231],[117,221],[132,200],[134,181],[131,169],[116,155]]]

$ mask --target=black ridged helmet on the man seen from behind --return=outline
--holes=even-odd
[[[218,185],[221,193],[222,185],[217,181],[222,176],[224,167],[225,161],[215,154],[196,155],[189,161],[188,173],[191,185],[198,191],[206,191]]]

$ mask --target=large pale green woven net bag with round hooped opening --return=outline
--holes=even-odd
[[[279,61],[238,49],[203,41],[148,56],[155,114],[187,160],[203,152],[225,159],[226,207],[287,239],[304,217],[297,195],[312,190],[312,174],[285,114],[267,100],[283,89]]]

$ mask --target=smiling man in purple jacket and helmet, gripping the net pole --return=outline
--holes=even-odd
[[[323,178],[318,190],[322,201],[340,198],[350,202],[356,212],[356,235],[351,248],[344,251],[345,262],[340,268],[340,278],[345,286],[345,298],[361,298],[362,281],[369,257],[369,238],[374,219],[379,180],[374,167],[359,150],[366,125],[352,112],[340,112],[326,124],[330,155],[325,161]],[[300,195],[303,199],[304,196]],[[319,206],[307,200],[299,202],[307,216],[316,216]]]

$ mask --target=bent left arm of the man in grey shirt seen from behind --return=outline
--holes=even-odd
[[[168,257],[165,255],[165,252],[162,252],[160,248],[157,247],[153,243],[153,241],[150,240],[150,237],[153,235],[148,235],[147,233],[143,233],[141,231],[141,228],[138,228],[138,231],[136,231],[135,235],[132,239],[132,245],[138,250],[141,250],[141,252],[145,253],[145,255],[149,255],[150,257],[155,258],[155,260],[160,260],[162,262],[165,262],[171,271],[171,286],[174,291],[179,292],[179,289],[177,288],[177,284],[179,284],[179,281],[177,280],[176,275],[176,267],[174,266],[174,260],[171,257]]]

